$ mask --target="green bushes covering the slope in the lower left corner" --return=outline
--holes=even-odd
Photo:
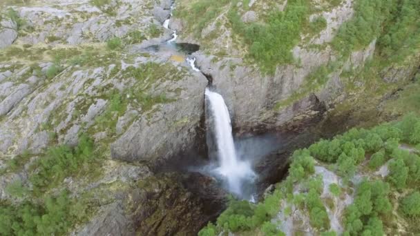
[[[17,163],[28,159],[19,157]],[[6,187],[6,192],[19,201],[0,201],[1,235],[65,235],[69,229],[85,222],[92,213],[85,198],[70,197],[68,190],[58,188],[66,177],[89,173],[95,161],[93,141],[81,135],[74,148],[60,145],[48,148],[31,164],[31,188],[20,180]]]

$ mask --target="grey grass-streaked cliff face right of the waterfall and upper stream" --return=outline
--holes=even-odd
[[[256,131],[257,127],[258,130],[276,130],[285,128],[286,124],[299,123],[302,119],[319,115],[321,110],[330,110],[343,101],[352,100],[358,92],[366,96],[370,93],[366,90],[370,90],[371,85],[365,80],[372,78],[363,78],[357,73],[363,70],[365,63],[379,60],[377,39],[374,37],[366,46],[348,55],[341,55],[332,46],[332,41],[341,26],[354,17],[356,1],[336,2],[339,3],[311,2],[315,10],[309,14],[309,22],[322,17],[325,26],[315,33],[303,30],[291,49],[294,63],[279,61],[274,72],[266,72],[258,61],[249,56],[251,48],[246,46],[248,39],[243,39],[236,32],[238,29],[234,26],[230,11],[234,9],[245,26],[256,22],[257,27],[264,27],[268,24],[269,9],[284,12],[287,1],[249,1],[249,5],[239,1],[236,7],[220,3],[220,8],[211,8],[214,15],[209,21],[191,21],[184,13],[200,9],[199,4],[179,1],[176,8],[178,14],[175,14],[178,18],[174,20],[173,27],[180,30],[181,40],[202,46],[202,51],[194,54],[198,58],[197,63],[205,74],[211,75],[213,86],[225,97],[236,130],[240,133]],[[202,16],[205,17],[207,15]],[[418,56],[418,52],[414,52],[414,58]],[[419,63],[414,58],[378,68],[381,81],[375,86],[388,87],[389,92],[403,86],[418,70]],[[352,78],[346,75],[350,71],[356,72]],[[353,87],[359,87],[360,90],[354,91],[351,89]],[[372,100],[381,100],[384,94],[386,92],[372,94]],[[324,106],[324,109],[320,109],[320,106]]]

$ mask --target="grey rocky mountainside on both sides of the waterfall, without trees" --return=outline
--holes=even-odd
[[[39,204],[67,190],[85,208],[64,234],[197,233],[220,214],[225,192],[211,177],[175,170],[206,159],[209,82],[225,98],[237,137],[285,137],[283,150],[256,164],[264,176],[261,188],[283,177],[294,148],[416,111],[417,104],[405,99],[418,86],[418,48],[407,41],[409,52],[393,51],[398,60],[387,57],[383,35],[372,34],[342,52],[336,37],[359,16],[358,1],[308,2],[305,23],[287,48],[292,60],[274,59],[274,66],[251,55],[249,39],[233,19],[266,26],[269,9],[287,14],[294,1],[177,0],[169,29],[162,26],[171,14],[169,0],[1,2],[1,204]],[[312,28],[320,17],[325,25]],[[200,46],[193,56],[203,74],[180,50],[150,50],[172,30],[178,43]],[[44,184],[34,180],[48,169],[42,160],[54,156],[55,147],[78,153],[82,137],[93,143],[88,161],[63,175],[46,175]],[[321,168],[316,170],[327,173]],[[340,215],[337,210],[330,214]]]

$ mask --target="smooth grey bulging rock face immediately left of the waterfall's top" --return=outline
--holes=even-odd
[[[185,88],[178,101],[155,112],[154,122],[146,117],[135,121],[112,144],[114,158],[125,161],[168,158],[197,144],[197,127],[204,115],[202,91],[207,86],[207,79],[204,76],[186,77],[178,86],[176,88]]]

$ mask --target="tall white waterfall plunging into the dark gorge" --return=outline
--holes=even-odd
[[[228,188],[232,193],[242,196],[242,185],[249,179],[254,179],[256,175],[249,162],[238,159],[236,155],[229,110],[222,95],[206,88],[205,96],[209,102],[216,137],[219,161],[216,172],[227,179]]]

